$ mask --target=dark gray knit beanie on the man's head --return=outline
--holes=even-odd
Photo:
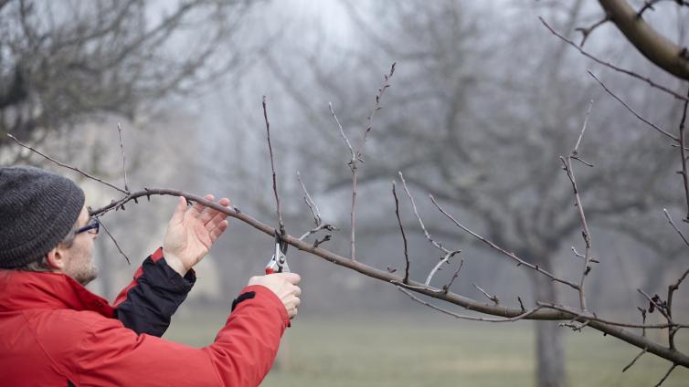
[[[84,192],[56,173],[0,167],[0,267],[21,267],[45,256],[69,234]]]

